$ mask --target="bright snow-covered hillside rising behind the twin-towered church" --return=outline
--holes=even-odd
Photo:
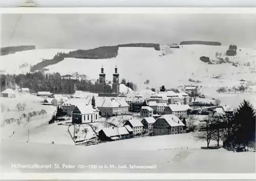
[[[228,57],[232,62],[239,62],[241,65],[238,67],[233,66],[232,63],[207,64],[200,60],[201,56],[217,59],[217,52],[219,58],[225,59],[227,49],[228,46],[205,45],[184,45],[179,49],[161,46],[160,51],[156,51],[154,48],[119,48],[116,58],[65,58],[63,61],[47,66],[46,69],[49,69],[49,73],[59,72],[61,75],[67,75],[78,72],[97,79],[103,65],[106,80],[112,80],[117,64],[120,79],[125,78],[126,81],[136,83],[139,90],[147,87],[159,89],[162,85],[172,88],[184,84],[197,84],[204,88],[202,89],[203,94],[209,95],[215,93],[216,89],[221,86],[238,86],[241,79],[255,82],[253,71],[255,72],[256,66],[256,50],[254,49],[238,47],[237,55]],[[1,56],[3,64],[1,70],[4,70],[5,73],[27,72],[29,67],[19,69],[19,66],[24,63],[36,64],[42,58],[49,59],[57,52],[68,51],[70,50],[33,50]],[[162,56],[163,52],[167,52],[167,54]],[[244,66],[247,62],[250,63],[250,66]],[[200,83],[191,82],[188,79],[199,80]],[[144,84],[146,80],[150,80],[150,83]],[[122,86],[120,86],[120,90],[124,93],[129,92],[126,87]],[[254,95],[252,99],[255,99]]]

